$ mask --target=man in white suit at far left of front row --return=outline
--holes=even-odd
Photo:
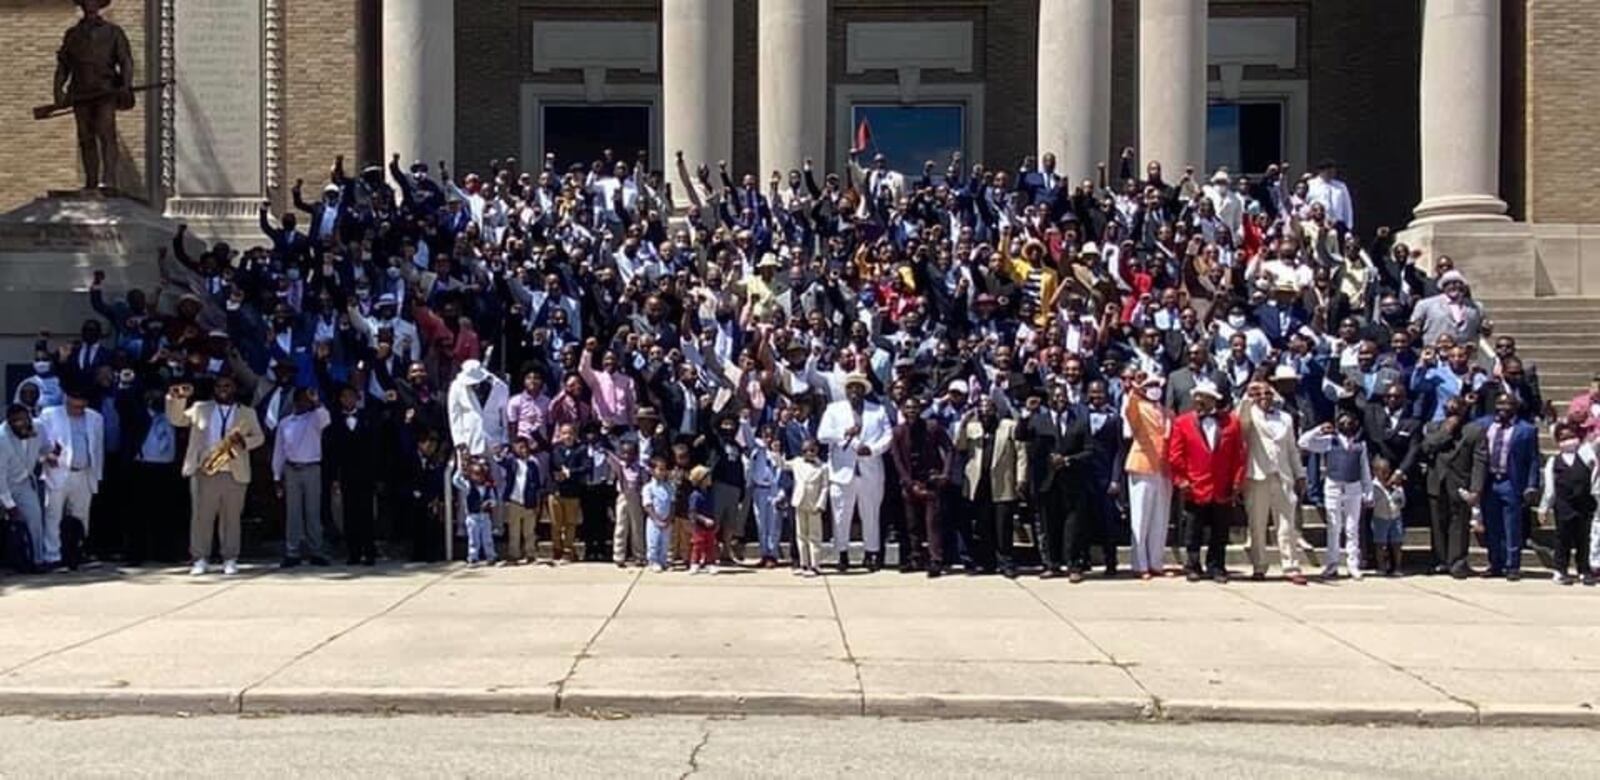
[[[101,475],[106,470],[106,420],[88,408],[88,395],[82,384],[69,382],[67,403],[51,406],[38,416],[38,430],[45,452],[45,539],[42,564],[61,563],[61,519],[78,518],[83,534],[90,531],[90,502],[99,492]],[[78,540],[82,543],[82,540]],[[77,563],[77,551],[67,551],[69,563]]]

